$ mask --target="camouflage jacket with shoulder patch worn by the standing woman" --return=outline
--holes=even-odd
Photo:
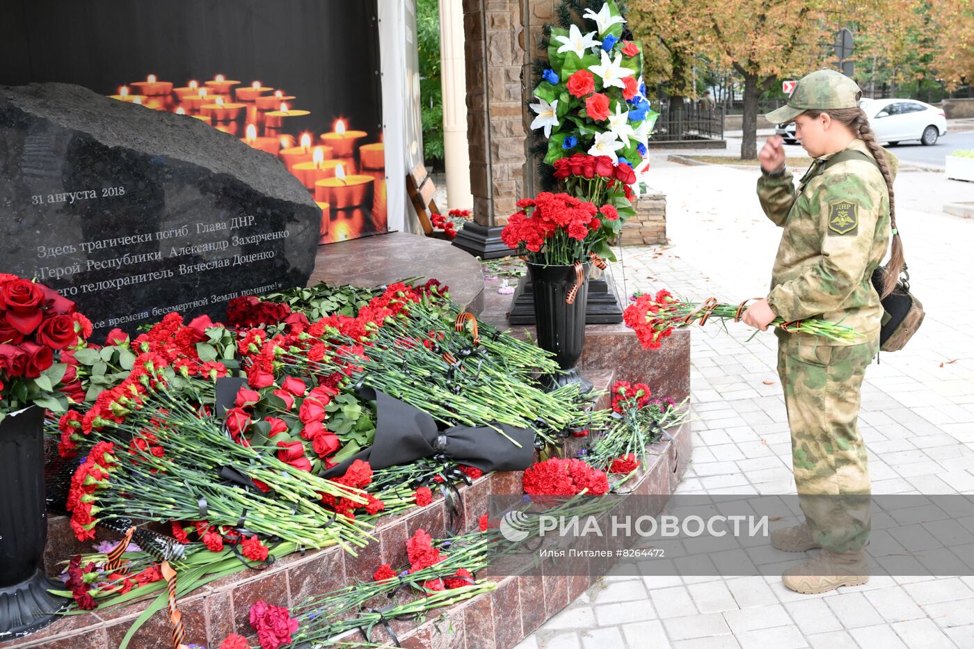
[[[871,155],[859,138],[847,148]],[[895,173],[895,157],[888,154],[887,160]],[[860,343],[878,338],[882,306],[871,277],[890,237],[889,196],[882,173],[869,161],[846,160],[820,172],[801,192],[792,177],[786,171],[778,177],[762,174],[758,180],[761,207],[784,229],[771,271],[768,305],[788,321],[822,318],[852,326],[865,336]],[[854,344],[804,333],[783,335],[800,336],[809,343]]]

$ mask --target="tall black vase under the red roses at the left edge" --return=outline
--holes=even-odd
[[[48,513],[44,492],[44,409],[32,405],[0,421],[0,638],[54,622],[68,599],[44,571]]]

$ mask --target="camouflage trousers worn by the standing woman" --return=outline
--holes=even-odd
[[[791,428],[799,505],[814,541],[830,552],[862,550],[870,530],[866,444],[859,435],[860,388],[879,351],[778,338],[778,375]],[[804,336],[802,336],[804,338]]]

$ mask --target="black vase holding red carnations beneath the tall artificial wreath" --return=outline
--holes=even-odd
[[[530,262],[527,266],[534,286],[538,346],[554,352],[558,366],[565,370],[565,373],[543,377],[543,383],[551,389],[578,383],[581,394],[588,393],[592,390],[592,382],[581,375],[576,365],[585,344],[585,308],[591,264],[582,264],[584,279],[571,304],[567,298],[578,282],[575,266],[543,266]]]

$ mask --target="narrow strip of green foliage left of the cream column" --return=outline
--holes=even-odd
[[[417,47],[420,57],[420,101],[423,104],[423,157],[443,159],[443,89],[439,78],[439,2],[416,3]]]

